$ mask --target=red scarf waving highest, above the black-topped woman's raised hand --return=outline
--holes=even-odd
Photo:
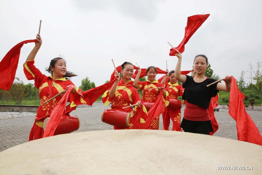
[[[187,17],[187,26],[185,27],[185,36],[183,41],[176,47],[180,53],[185,51],[185,44],[191,38],[191,36],[197,31],[197,29],[206,21],[210,14],[206,15],[194,15]],[[173,48],[170,49],[170,56],[176,56],[177,51]]]

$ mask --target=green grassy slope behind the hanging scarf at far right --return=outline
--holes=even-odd
[[[251,99],[255,100],[254,106],[261,106],[261,96],[258,90],[245,88],[242,92],[247,98],[244,99],[244,104],[249,106]],[[219,91],[218,104],[228,105],[228,102],[223,101],[223,99],[229,100],[229,92]]]

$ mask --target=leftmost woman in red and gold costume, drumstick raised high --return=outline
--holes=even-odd
[[[39,89],[40,106],[38,107],[35,122],[29,135],[29,141],[40,139],[43,137],[44,129],[43,122],[45,118],[49,117],[58,104],[59,100],[63,97],[63,94],[52,99],[51,101],[44,104],[45,101],[51,97],[57,95],[59,92],[66,92],[68,86],[74,86],[74,90],[70,94],[68,102],[70,105],[66,106],[65,113],[68,114],[76,108],[77,105],[85,104],[83,100],[82,91],[77,88],[72,81],[65,77],[76,76],[72,72],[68,72],[66,69],[65,60],[62,58],[54,58],[51,60],[50,65],[47,69],[51,76],[45,76],[39,69],[34,66],[34,59],[38,50],[42,45],[42,39],[37,34],[36,39],[38,42],[35,43],[33,50],[28,55],[26,62],[24,63],[24,73],[28,80],[35,80],[35,86]]]

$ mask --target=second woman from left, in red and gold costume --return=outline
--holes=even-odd
[[[113,109],[122,109],[123,107],[137,104],[134,106],[134,111],[131,107],[125,108],[126,112],[131,113],[130,123],[128,127],[114,126],[114,129],[140,129],[140,124],[146,123],[147,111],[141,103],[141,98],[136,88],[133,87],[134,81],[130,78],[134,74],[134,66],[130,62],[124,62],[121,65],[122,78],[118,72],[115,72],[117,78],[113,86],[107,90],[102,96],[102,101],[105,106],[111,103]],[[143,108],[141,112],[138,108]]]

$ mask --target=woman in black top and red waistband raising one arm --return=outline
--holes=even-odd
[[[196,75],[185,76],[180,74],[182,55],[179,51],[176,56],[178,62],[175,69],[175,77],[178,81],[183,83],[185,88],[182,99],[186,100],[186,108],[184,111],[184,118],[180,127],[185,132],[192,132],[198,134],[209,134],[213,132],[213,127],[210,121],[208,107],[211,97],[215,97],[217,92],[229,92],[231,88],[231,76],[226,76],[225,84],[221,82],[215,83],[206,87],[206,85],[215,82],[215,79],[207,78],[205,70],[208,66],[208,59],[205,55],[197,55],[194,59],[194,71]]]

